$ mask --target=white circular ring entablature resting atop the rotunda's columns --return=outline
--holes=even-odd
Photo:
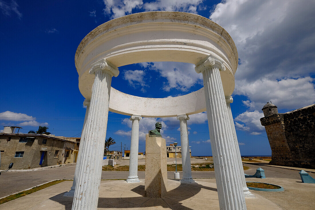
[[[120,67],[155,61],[198,64],[209,55],[224,63],[226,71],[220,72],[221,80],[225,95],[230,96],[238,53],[225,29],[200,15],[143,12],[110,20],[91,31],[77,48],[75,65],[80,92],[89,99],[95,77],[89,74],[89,68],[102,59]],[[111,88],[109,110],[143,117],[172,117],[203,112],[206,108],[203,88],[170,98],[143,98]]]

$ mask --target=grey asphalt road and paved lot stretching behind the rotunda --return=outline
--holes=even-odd
[[[175,158],[173,158],[175,160]],[[168,159],[168,164],[173,163],[173,159]],[[181,159],[178,158],[178,163],[181,163]],[[200,163],[205,162],[202,159],[192,158],[192,163],[200,161]],[[120,163],[128,162],[129,160],[123,160]],[[117,163],[118,164],[118,163]],[[123,165],[123,164],[122,164]],[[140,162],[139,165],[144,165]],[[252,164],[244,164],[245,166],[251,167],[249,170],[246,170],[246,174],[255,174],[256,169],[261,167],[265,170],[267,178],[293,178],[300,179],[298,171],[284,169],[284,168],[275,168],[270,166],[256,166]],[[74,170],[76,165],[60,166],[55,168],[47,168],[37,171],[19,171],[19,172],[6,172],[2,173],[0,176],[0,197],[10,195],[12,193],[19,192],[36,186],[38,184],[43,184],[45,182],[55,180],[55,179],[73,179]],[[102,179],[126,179],[129,175],[129,172],[117,172],[117,171],[103,171]],[[312,174],[311,174],[312,175]],[[145,178],[145,172],[138,172],[140,179]],[[180,172],[180,177],[182,177],[182,172]],[[313,176],[314,177],[314,176]],[[168,178],[174,178],[174,172],[168,172]],[[192,178],[215,178],[214,171],[192,171]]]

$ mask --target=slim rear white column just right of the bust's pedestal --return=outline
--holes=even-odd
[[[189,142],[187,120],[189,117],[186,114],[177,115],[177,120],[180,122],[180,146],[181,146],[181,162],[183,168],[183,178],[181,183],[195,182],[192,179],[192,167],[190,163]]]

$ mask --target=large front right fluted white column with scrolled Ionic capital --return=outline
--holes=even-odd
[[[241,182],[235,177],[236,161],[233,157],[236,150],[220,76],[220,70],[225,69],[221,61],[211,56],[195,67],[197,73],[203,74],[220,209],[246,209]]]

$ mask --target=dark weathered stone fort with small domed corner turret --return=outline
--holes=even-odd
[[[284,114],[271,102],[262,111],[272,165],[315,168],[315,104]]]

